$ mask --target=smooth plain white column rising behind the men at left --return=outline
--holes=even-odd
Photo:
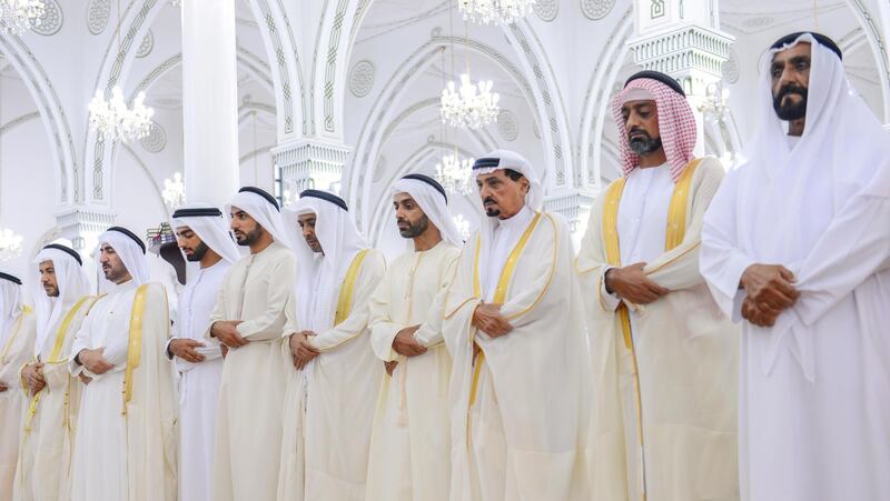
[[[186,201],[222,206],[238,188],[235,0],[181,9]]]

